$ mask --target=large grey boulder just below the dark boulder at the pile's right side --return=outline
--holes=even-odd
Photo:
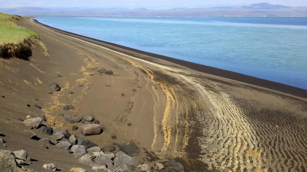
[[[119,151],[115,154],[115,158],[113,161],[114,161],[114,167],[121,168],[123,171],[125,170],[132,171],[137,166],[141,165],[141,163],[138,160],[128,156],[122,151]]]

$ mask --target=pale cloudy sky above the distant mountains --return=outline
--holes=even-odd
[[[21,6],[36,7],[86,7],[86,8],[148,8],[170,9],[177,7],[205,8],[240,6],[267,2],[284,6],[307,6],[307,0],[0,0],[0,8]]]

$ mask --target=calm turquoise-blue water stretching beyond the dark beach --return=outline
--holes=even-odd
[[[307,89],[307,17],[37,17],[68,32]]]

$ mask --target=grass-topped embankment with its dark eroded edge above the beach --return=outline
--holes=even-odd
[[[31,45],[33,39],[40,39],[32,30],[17,26],[14,20],[17,16],[0,13],[0,57],[23,58],[32,54]]]

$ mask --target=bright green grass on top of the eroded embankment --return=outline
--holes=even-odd
[[[40,36],[32,30],[17,26],[13,22],[13,17],[0,13],[0,44],[18,44],[29,38],[40,39]]]

